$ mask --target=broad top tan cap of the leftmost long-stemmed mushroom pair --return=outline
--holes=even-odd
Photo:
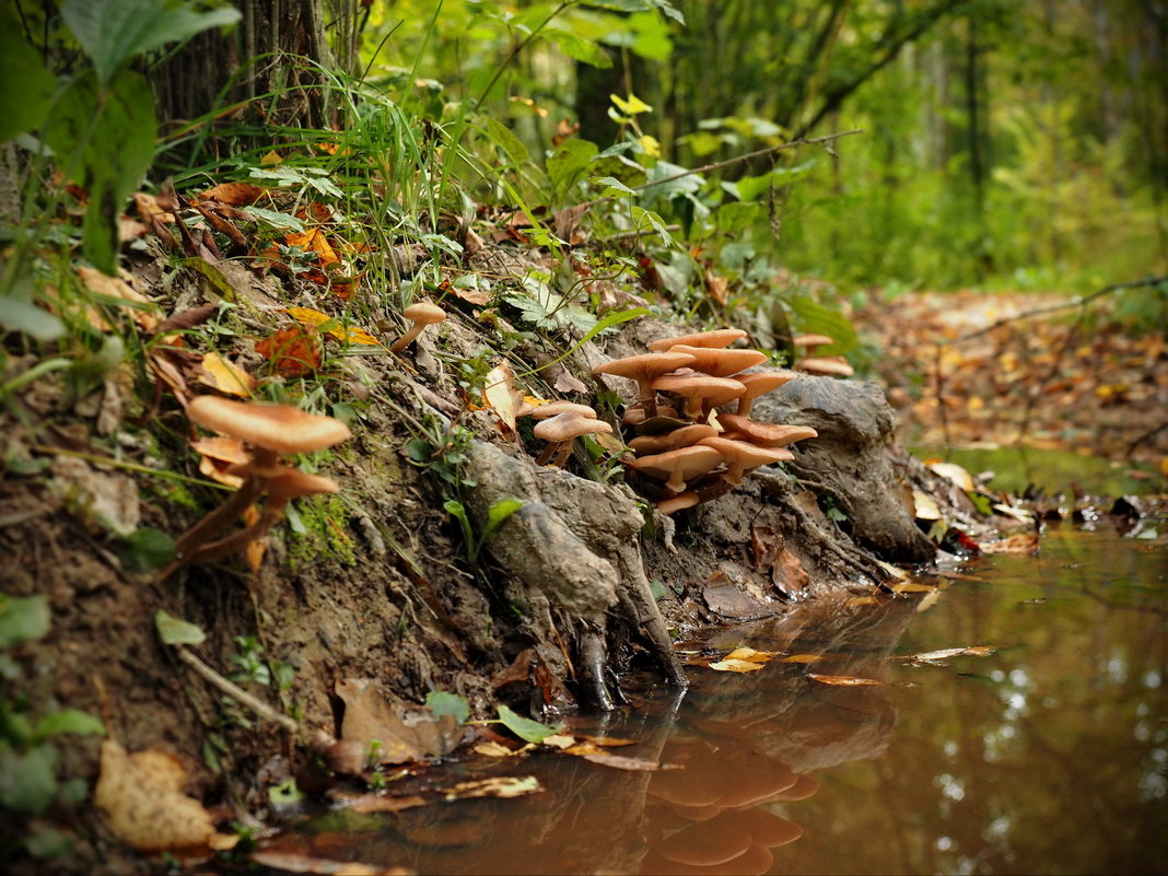
[[[291,404],[232,402],[208,395],[193,398],[187,416],[206,429],[280,454],[311,453],[353,436],[341,420]]]

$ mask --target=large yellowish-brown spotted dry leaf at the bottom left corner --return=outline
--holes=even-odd
[[[228,849],[238,836],[221,834],[203,805],[182,793],[187,773],[171,755],[133,755],[114,739],[102,743],[95,802],[110,828],[139,851]]]

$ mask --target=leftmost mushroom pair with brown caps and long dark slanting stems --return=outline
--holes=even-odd
[[[189,563],[206,563],[246,548],[262,538],[283,516],[288,502],[318,493],[335,493],[336,481],[303,472],[281,457],[332,447],[352,433],[339,419],[308,413],[290,404],[234,402],[199,396],[187,405],[194,423],[239,442],[223,473],[241,479],[239,488],[175,542],[176,558],[159,572],[165,578]],[[263,509],[246,512],[263,496]],[[243,517],[245,526],[221,534]],[[216,537],[221,536],[221,537]]]

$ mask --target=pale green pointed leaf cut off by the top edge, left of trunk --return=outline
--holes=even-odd
[[[175,0],[65,0],[61,18],[92,58],[104,85],[132,58],[208,28],[234,25],[242,16],[230,6],[200,12]]]

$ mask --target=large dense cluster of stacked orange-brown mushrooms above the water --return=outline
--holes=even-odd
[[[744,373],[766,361],[759,350],[730,348],[745,336],[742,329],[721,328],[667,338],[651,343],[649,353],[592,369],[637,382],[638,401],[623,418],[635,453],[626,465],[630,480],[662,514],[723,495],[751,470],[794,459],[787,446],[816,436],[807,426],[750,419],[758,396],[797,375]],[[737,402],[734,413],[715,411],[730,402]]]

